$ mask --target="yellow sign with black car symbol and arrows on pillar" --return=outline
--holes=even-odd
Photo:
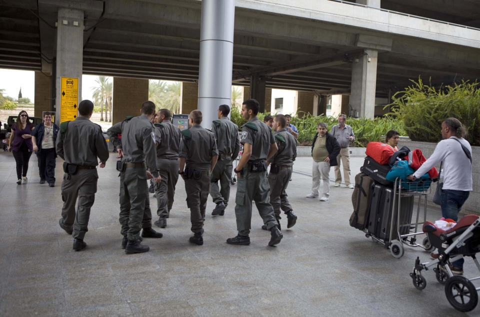
[[[60,123],[78,115],[78,78],[61,77]]]

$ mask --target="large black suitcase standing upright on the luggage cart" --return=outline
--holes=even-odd
[[[394,218],[392,218],[392,207],[393,201],[395,201],[394,206]],[[410,224],[411,216],[413,213],[413,196],[402,196],[400,197],[400,225]],[[390,238],[390,225],[393,222],[393,234],[392,239],[397,239],[397,212],[398,212],[398,195],[393,196],[393,188],[383,187],[383,191],[380,198],[379,205],[382,214],[380,217],[380,226],[378,227],[377,237],[383,240],[388,240]],[[410,231],[410,226],[400,227],[400,235],[405,235]]]

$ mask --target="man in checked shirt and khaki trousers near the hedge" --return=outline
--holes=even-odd
[[[338,124],[334,125],[330,133],[336,138],[340,144],[340,153],[336,157],[338,165],[333,169],[335,171],[335,187],[340,187],[340,159],[343,164],[343,180],[345,186],[353,189],[355,186],[350,182],[350,142],[355,140],[355,135],[348,124],[345,124],[346,115],[340,114],[338,116]]]

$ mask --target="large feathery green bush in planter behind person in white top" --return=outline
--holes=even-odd
[[[480,145],[480,84],[462,81],[440,88],[411,80],[413,85],[392,97],[392,113],[403,121],[407,135],[414,141],[441,140],[441,122],[449,117],[460,120],[467,130],[466,139]]]

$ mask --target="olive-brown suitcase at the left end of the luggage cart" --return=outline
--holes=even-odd
[[[373,179],[363,173],[355,176],[355,189],[351,195],[353,213],[350,216],[350,226],[363,230],[368,225],[368,213],[370,211],[370,192]]]

